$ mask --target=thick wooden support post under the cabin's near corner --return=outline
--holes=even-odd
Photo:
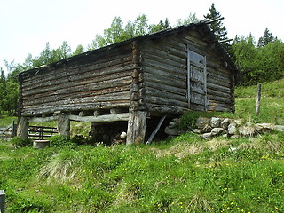
[[[128,121],[126,144],[144,143],[146,133],[146,111],[130,111]]]

